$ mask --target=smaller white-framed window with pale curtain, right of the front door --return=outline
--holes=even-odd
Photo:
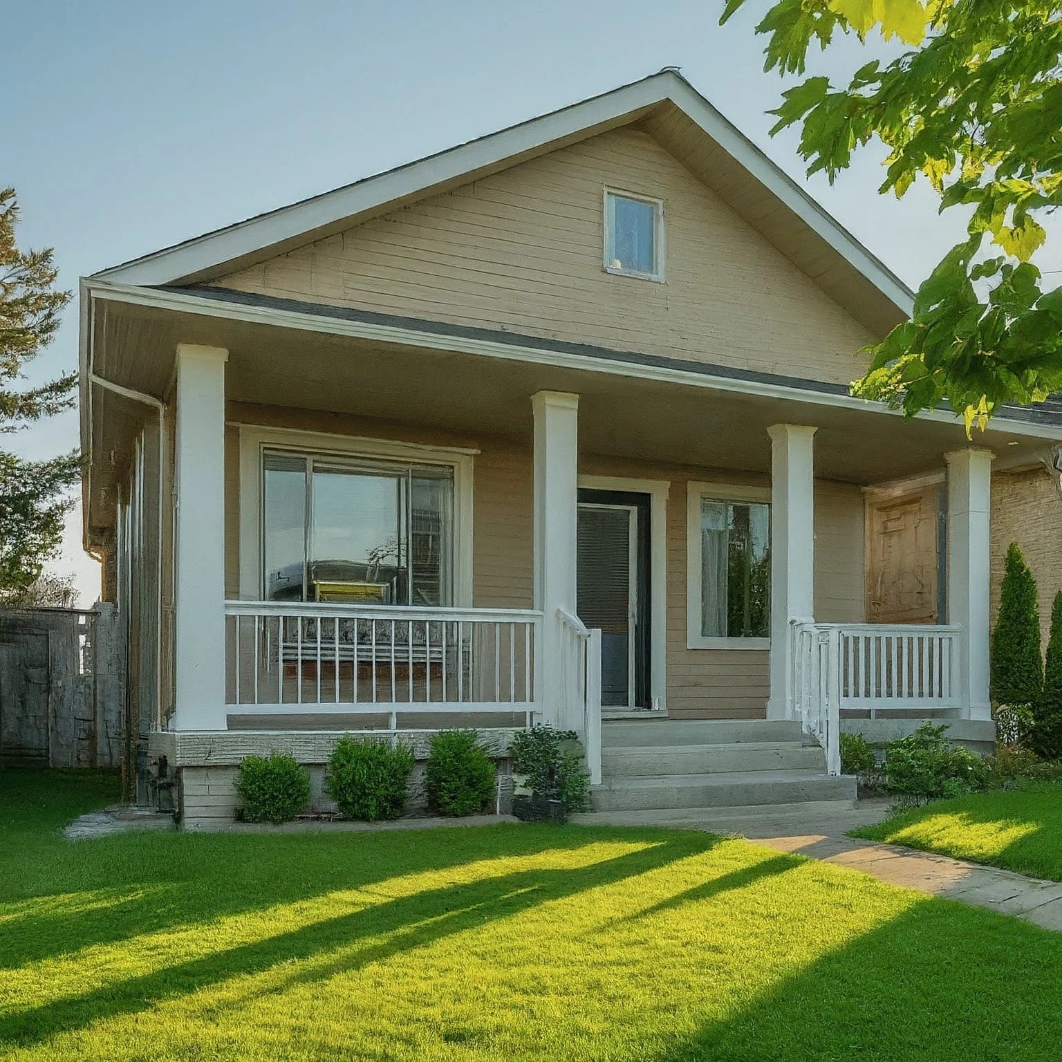
[[[691,649],[767,648],[771,516],[760,487],[690,483],[687,502]]]

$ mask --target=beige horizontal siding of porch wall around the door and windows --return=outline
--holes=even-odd
[[[474,604],[531,607],[532,449],[530,440],[455,434],[406,425],[275,407],[229,404],[229,422],[396,439],[438,446],[475,447]],[[239,566],[238,434],[226,434],[226,583],[236,585]],[[688,465],[662,465],[584,456],[580,473],[666,480],[667,507],[667,698],[675,718],[761,718],[768,697],[768,653],[764,650],[686,648],[686,483],[688,480],[766,484],[742,476]],[[816,486],[817,618],[862,619],[862,497],[858,487],[820,482]]]

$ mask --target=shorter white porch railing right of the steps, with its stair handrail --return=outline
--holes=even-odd
[[[790,621],[793,715],[840,773],[842,708],[961,707],[959,627]]]

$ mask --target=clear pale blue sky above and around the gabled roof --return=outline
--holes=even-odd
[[[62,282],[679,66],[792,175],[795,138],[768,136],[783,84],[763,72],[750,11],[718,0],[7,0],[0,16],[0,185],[18,191],[22,246],[51,245]],[[880,41],[869,46],[879,54]],[[864,62],[855,42],[821,69]],[[820,64],[822,61],[817,61]],[[818,71],[817,71],[818,72]],[[954,242],[918,188],[877,196],[880,152],[810,192],[917,285]],[[76,362],[75,308],[38,359]],[[8,440],[33,456],[75,445],[76,414]],[[56,571],[98,593],[79,517]]]

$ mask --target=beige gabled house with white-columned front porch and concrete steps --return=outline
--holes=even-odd
[[[841,726],[991,744],[993,469],[1055,506],[1062,410],[851,397],[910,302],[671,70],[88,277],[144,777],[202,825],[251,752],[544,719],[658,809],[849,801]]]

